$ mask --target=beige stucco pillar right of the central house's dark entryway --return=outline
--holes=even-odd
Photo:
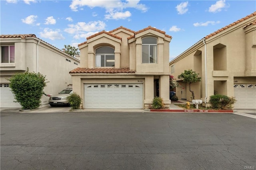
[[[159,76],[159,97],[164,100],[164,107],[170,107],[169,75]]]

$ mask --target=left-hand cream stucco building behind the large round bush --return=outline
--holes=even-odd
[[[0,46],[0,107],[21,107],[13,102],[14,96],[6,78],[24,73],[27,68],[29,72],[40,72],[46,76],[46,94],[72,87],[69,71],[79,66],[80,61],[38,39],[36,35],[0,35]],[[48,105],[48,99],[42,96],[42,106]]]

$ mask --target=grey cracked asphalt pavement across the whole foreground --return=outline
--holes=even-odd
[[[255,119],[232,113],[1,112],[1,169],[253,169]]]

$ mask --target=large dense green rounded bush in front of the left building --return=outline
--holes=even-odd
[[[22,109],[36,109],[41,104],[41,98],[46,86],[46,76],[35,72],[19,73],[10,79],[10,88],[14,94],[14,99],[20,103]]]

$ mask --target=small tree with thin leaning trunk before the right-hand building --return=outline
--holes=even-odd
[[[180,75],[178,75],[178,79],[183,79],[184,83],[189,84],[189,91],[192,93],[192,99],[195,99],[194,91],[191,90],[191,84],[195,82],[200,82],[201,77],[198,77],[198,74],[193,70],[184,70]]]

